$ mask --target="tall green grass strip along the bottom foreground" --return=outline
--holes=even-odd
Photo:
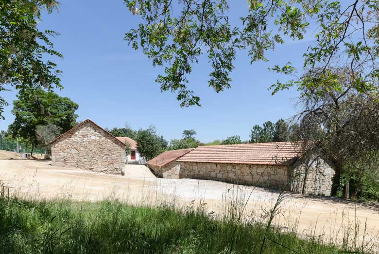
[[[0,198],[0,253],[219,254],[226,253],[235,227],[238,244],[233,245],[232,253],[259,253],[263,225],[215,220],[193,206],[173,211],[117,201]],[[289,253],[287,248],[313,254],[339,250],[317,238],[306,241],[276,229],[269,230],[266,238],[263,254]]]

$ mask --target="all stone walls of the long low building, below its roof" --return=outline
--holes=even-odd
[[[299,160],[291,166],[238,163],[172,162],[150,168],[162,178],[202,179],[330,196],[333,169],[321,159]]]

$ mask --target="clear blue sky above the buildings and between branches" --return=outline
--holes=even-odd
[[[168,141],[180,138],[184,129],[194,129],[202,142],[240,135],[248,140],[251,128],[267,120],[287,119],[296,111],[295,88],[272,96],[270,85],[281,78],[268,71],[274,64],[292,62],[301,66],[309,41],[288,41],[268,52],[270,62],[250,65],[246,52],[239,52],[230,89],[216,93],[208,88],[209,64],[194,66],[189,88],[201,97],[202,107],[180,108],[176,95],[161,93],[155,83],[163,68],[154,68],[141,52],[124,41],[124,34],[137,26],[122,0],[61,0],[59,13],[44,15],[41,29],[61,35],[52,39],[55,49],[64,55],[56,60],[63,71],[61,96],[79,104],[79,120],[90,118],[102,127],[134,129],[153,124]],[[246,14],[246,1],[232,1],[232,22]],[[236,23],[237,24],[237,23]],[[284,80],[284,79],[281,79]],[[15,92],[4,92],[8,102]],[[12,105],[5,108],[0,129],[13,122]]]

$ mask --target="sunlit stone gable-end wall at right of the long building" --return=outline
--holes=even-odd
[[[334,170],[320,158],[293,163],[291,191],[308,195],[330,196]]]

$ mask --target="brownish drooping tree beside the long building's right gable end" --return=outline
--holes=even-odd
[[[314,152],[335,170],[333,195],[342,187],[341,176],[348,173],[345,172],[347,165],[362,164],[368,154],[379,150],[378,94],[354,91],[357,78],[360,79],[346,69],[330,71],[323,76],[323,87],[312,88],[308,91],[311,96],[301,97],[304,109],[296,116],[298,140],[313,141]],[[341,89],[327,89],[328,84],[330,87],[338,84]],[[358,168],[358,164],[355,167]]]

